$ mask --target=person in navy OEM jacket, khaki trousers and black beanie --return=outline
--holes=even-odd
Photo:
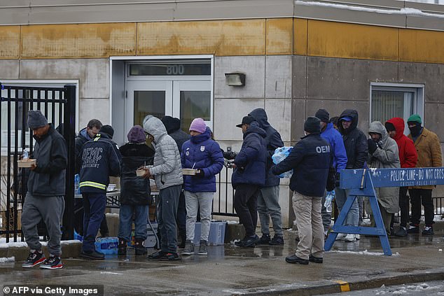
[[[293,169],[290,189],[299,243],[296,253],[285,258],[289,263],[307,265],[324,261],[321,199],[326,189],[333,190],[335,179],[330,169],[333,165],[331,146],[321,137],[320,124],[319,118],[308,117],[304,124],[306,136],[296,143],[289,156],[271,169],[275,175]]]

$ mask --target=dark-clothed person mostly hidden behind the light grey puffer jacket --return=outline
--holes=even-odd
[[[181,120],[179,118],[174,118],[171,116],[162,117],[162,123],[165,125],[165,129],[167,129],[167,133],[171,136],[174,141],[176,141],[177,148],[179,148],[179,153],[182,152],[182,145],[188,139],[190,139],[190,135],[186,132],[183,132],[181,129]],[[186,205],[185,205],[185,195],[183,195],[183,190],[181,190],[181,195],[179,197],[179,206],[177,207],[177,232],[178,232],[178,243],[177,246],[179,248],[185,248],[186,241]]]

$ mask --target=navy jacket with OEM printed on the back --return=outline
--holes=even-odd
[[[291,190],[310,197],[323,197],[332,165],[333,153],[328,141],[320,134],[307,134],[296,143],[289,156],[272,167],[272,173],[279,175],[293,169]]]

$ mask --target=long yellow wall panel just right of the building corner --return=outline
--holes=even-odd
[[[398,60],[398,29],[308,20],[308,55]]]

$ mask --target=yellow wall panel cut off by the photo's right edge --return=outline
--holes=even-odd
[[[400,29],[399,59],[408,62],[444,63],[444,32]]]

